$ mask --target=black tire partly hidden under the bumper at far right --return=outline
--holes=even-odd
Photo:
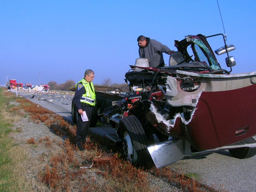
[[[256,155],[256,147],[242,147],[237,149],[229,149],[229,153],[238,159],[246,159]]]

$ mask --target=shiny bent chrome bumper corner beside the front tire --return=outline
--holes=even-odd
[[[163,168],[184,158],[184,142],[181,139],[168,140],[148,147],[157,168]]]

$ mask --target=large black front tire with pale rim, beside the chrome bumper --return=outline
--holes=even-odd
[[[123,141],[125,158],[136,167],[150,168],[153,160],[147,149],[146,133],[135,116],[120,120],[119,133]]]

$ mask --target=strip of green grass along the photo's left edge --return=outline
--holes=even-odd
[[[11,132],[19,131],[19,128],[11,129],[11,123],[17,121],[19,115],[9,112],[15,107],[9,103],[15,100],[13,94],[4,94],[3,88],[0,88],[0,192],[31,191],[21,168],[22,162],[26,160],[26,153],[9,136]]]

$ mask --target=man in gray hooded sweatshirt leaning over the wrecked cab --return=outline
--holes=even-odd
[[[145,37],[143,35],[140,35],[137,38],[137,41],[139,45],[139,57],[147,58],[149,60],[150,67],[163,67],[163,53],[170,55],[174,52],[159,41],[150,39],[149,37]]]

